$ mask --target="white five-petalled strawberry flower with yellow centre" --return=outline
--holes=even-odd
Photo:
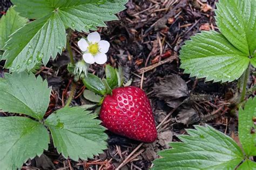
[[[83,59],[85,62],[103,65],[107,61],[106,53],[109,51],[110,44],[108,41],[100,40],[98,32],[92,32],[88,35],[87,41],[80,39],[78,46],[84,52]]]

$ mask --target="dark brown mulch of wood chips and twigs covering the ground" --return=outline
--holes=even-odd
[[[196,80],[179,69],[180,47],[190,36],[201,30],[216,30],[214,0],[130,0],[127,10],[120,12],[120,20],[100,28],[103,39],[110,41],[108,62],[122,66],[125,81],[142,87],[149,96],[158,128],[158,139],[143,144],[121,169],[149,169],[157,152],[169,148],[170,141],[177,141],[178,134],[196,124],[210,124],[237,140],[236,113],[230,113],[236,97],[236,83],[212,83]],[[10,6],[1,1],[2,14]],[[72,34],[75,58],[82,55],[77,40],[83,33]],[[36,73],[52,86],[51,102],[46,116],[62,108],[70,93],[71,75],[66,69],[68,53],[50,61]],[[3,63],[1,63],[3,66]],[[3,67],[0,66],[0,69]],[[3,70],[3,69],[2,69]],[[4,70],[8,72],[8,70]],[[104,67],[92,65],[89,72],[104,77]],[[83,83],[78,82],[72,105],[87,103],[82,97]],[[74,162],[59,155],[53,145],[40,157],[29,160],[23,169],[114,169],[140,144],[121,136],[109,134],[109,148],[95,159]]]

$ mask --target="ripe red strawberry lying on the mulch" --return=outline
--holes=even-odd
[[[140,88],[113,89],[112,95],[105,97],[99,116],[113,133],[148,143],[157,138],[150,101]]]

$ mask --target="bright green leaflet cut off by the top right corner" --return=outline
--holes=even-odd
[[[220,32],[241,52],[253,56],[256,49],[256,1],[220,0],[216,6]]]

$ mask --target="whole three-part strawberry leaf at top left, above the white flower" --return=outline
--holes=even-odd
[[[17,11],[28,18],[38,18],[12,34],[4,47],[5,68],[11,72],[31,70],[43,60],[56,58],[66,45],[65,27],[89,32],[104,22],[118,19],[114,14],[125,9],[127,0],[103,1],[12,1]],[[100,11],[100,12],[99,12]]]

